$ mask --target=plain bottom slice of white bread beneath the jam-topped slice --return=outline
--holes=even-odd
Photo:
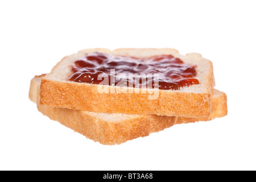
[[[224,117],[228,110],[226,94],[214,89],[212,111],[209,118],[167,117],[159,115],[130,115],[93,113],[90,111],[62,109],[39,104],[39,90],[42,76],[31,80],[30,100],[37,103],[38,110],[64,126],[101,144],[113,145],[139,137],[146,137],[175,124]]]

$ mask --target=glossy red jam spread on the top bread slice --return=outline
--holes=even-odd
[[[102,84],[102,80],[108,77],[106,85],[135,88],[151,85],[150,88],[179,90],[183,86],[199,84],[199,81],[193,78],[196,76],[195,68],[196,66],[185,64],[172,55],[137,58],[93,52],[75,61],[72,68],[73,75],[68,80]],[[119,73],[126,75],[125,79]],[[129,73],[134,74],[133,77],[129,77]],[[154,73],[159,74],[158,82],[155,80]],[[136,76],[139,78],[136,79]]]

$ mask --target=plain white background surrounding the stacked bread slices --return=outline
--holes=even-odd
[[[255,1],[0,1],[2,170],[255,170]],[[175,48],[213,62],[228,115],[104,146],[51,121],[30,80],[84,48]]]

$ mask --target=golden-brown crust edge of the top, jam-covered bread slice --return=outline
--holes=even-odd
[[[175,49],[116,49],[115,54],[136,55],[142,50],[157,50],[159,52],[174,52]],[[84,52],[102,51],[111,52],[108,49],[86,49]],[[81,53],[82,51],[80,51]],[[144,53],[145,54],[145,53]],[[190,57],[199,54],[188,54]],[[143,56],[143,53],[142,53]],[[42,78],[40,91],[40,104],[51,107],[67,109],[86,110],[105,113],[125,114],[156,114],[167,116],[180,116],[190,118],[209,117],[211,108],[212,92],[214,87],[213,67],[210,63],[210,70],[205,75],[205,92],[170,92],[159,90],[159,97],[156,100],[148,100],[148,93],[125,94],[98,93],[97,86],[93,84],[79,84],[76,82],[55,81],[47,76]],[[59,63],[55,66],[55,68]],[[55,69],[53,68],[53,70]],[[51,73],[49,74],[51,75]],[[111,87],[108,86],[110,90]]]

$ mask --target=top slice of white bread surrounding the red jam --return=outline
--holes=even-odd
[[[71,65],[90,52],[102,52],[131,57],[172,55],[186,64],[196,65],[200,84],[185,86],[180,90],[159,90],[158,98],[142,88],[128,88],[130,93],[110,93],[113,86],[105,86],[109,93],[98,93],[98,85],[67,81],[72,75]],[[115,86],[116,88],[120,88]],[[156,114],[190,118],[209,117],[214,88],[212,63],[198,53],[180,55],[175,49],[84,49],[64,57],[42,79],[40,104],[51,107],[86,110],[96,113]],[[118,90],[118,89],[117,89]],[[151,91],[154,89],[151,89]],[[143,93],[146,92],[146,93]],[[143,93],[143,94],[142,94]]]

